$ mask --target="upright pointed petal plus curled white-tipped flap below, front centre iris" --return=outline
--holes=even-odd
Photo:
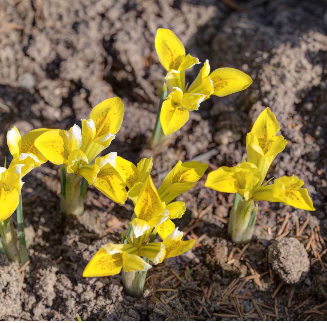
[[[136,218],[130,221],[130,225],[136,238],[168,219],[165,203],[161,201],[150,175],[140,190],[134,213]]]

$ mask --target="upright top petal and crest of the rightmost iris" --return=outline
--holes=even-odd
[[[260,113],[247,135],[248,161],[255,164],[262,174],[259,185],[265,179],[277,154],[281,153],[287,144],[282,135],[276,136],[280,129],[276,116],[267,107]]]

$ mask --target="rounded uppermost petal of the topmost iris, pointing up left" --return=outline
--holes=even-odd
[[[185,57],[185,48],[174,32],[159,28],[155,37],[155,48],[165,70],[178,70]]]

